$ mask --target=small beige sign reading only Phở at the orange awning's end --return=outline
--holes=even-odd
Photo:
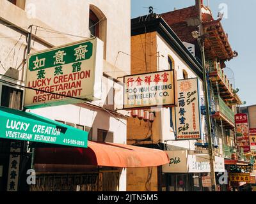
[[[188,172],[188,151],[170,150],[165,151],[168,154],[170,162],[163,165],[164,173],[186,173]]]

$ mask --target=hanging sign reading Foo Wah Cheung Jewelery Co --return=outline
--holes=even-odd
[[[124,76],[124,109],[175,106],[175,71]]]

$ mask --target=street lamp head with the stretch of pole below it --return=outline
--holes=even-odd
[[[207,133],[208,133],[208,143],[209,143],[208,150],[209,150],[210,166],[211,166],[210,176],[211,176],[212,191],[216,191],[216,181],[215,181],[215,172],[214,172],[214,155],[212,150],[212,133],[211,133],[211,118],[210,118],[211,115],[209,110],[209,97],[208,97],[207,78],[206,78],[206,71],[205,71],[205,54],[204,54],[204,39],[207,36],[204,34],[200,35],[198,31],[193,31],[191,34],[193,38],[195,38],[198,41],[198,45],[200,47],[200,51],[202,55],[206,126],[207,126]]]

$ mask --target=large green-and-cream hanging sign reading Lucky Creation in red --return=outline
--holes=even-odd
[[[32,89],[26,89],[24,106],[100,99],[102,67],[103,44],[97,38],[29,54],[26,87]]]

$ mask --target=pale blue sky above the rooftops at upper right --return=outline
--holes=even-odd
[[[207,0],[204,1],[207,5]],[[155,13],[172,11],[195,5],[195,0],[131,0],[131,17],[147,15],[148,6],[154,7]],[[246,101],[246,106],[256,104],[256,68],[255,62],[255,0],[209,0],[209,6],[214,18],[218,18],[219,11],[225,11],[221,20],[228,40],[233,50],[238,52],[238,57],[226,62],[225,73],[230,82],[239,89],[239,96]],[[230,71],[232,69],[232,71]],[[234,73],[234,75],[233,75]],[[234,79],[233,79],[234,78]]]

